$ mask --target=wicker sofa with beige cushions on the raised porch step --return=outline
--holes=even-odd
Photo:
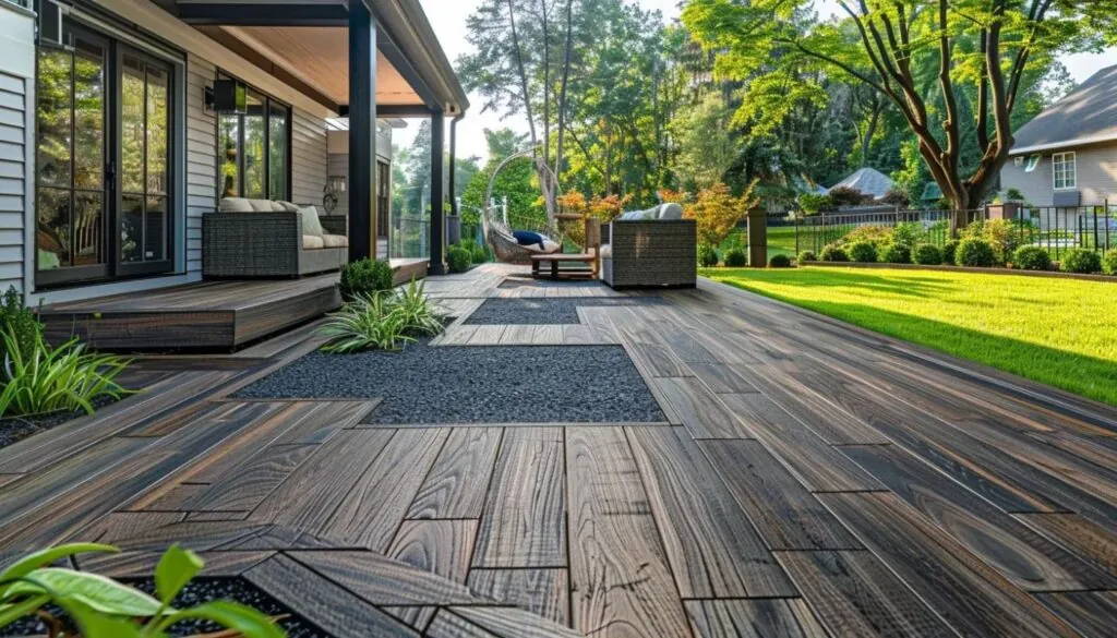
[[[349,257],[345,221],[319,218],[314,207],[225,198],[202,216],[202,274],[267,278],[336,270]]]

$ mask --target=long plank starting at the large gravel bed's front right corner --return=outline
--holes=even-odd
[[[628,437],[682,598],[795,594],[682,428],[628,428]]]

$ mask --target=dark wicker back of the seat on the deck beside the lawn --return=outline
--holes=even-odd
[[[602,229],[604,230],[604,229]],[[695,287],[698,283],[698,234],[693,219],[613,221],[602,250],[602,278],[626,286]]]

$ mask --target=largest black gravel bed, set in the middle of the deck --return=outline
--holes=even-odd
[[[667,418],[619,345],[313,352],[235,394],[384,400],[367,423],[652,422]]]

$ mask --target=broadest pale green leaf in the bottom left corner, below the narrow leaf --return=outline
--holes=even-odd
[[[17,582],[9,593],[36,594],[46,590],[56,599],[74,599],[94,611],[115,616],[146,618],[162,609],[160,602],[146,593],[101,574],[42,568],[28,574],[27,580],[34,582]]]

